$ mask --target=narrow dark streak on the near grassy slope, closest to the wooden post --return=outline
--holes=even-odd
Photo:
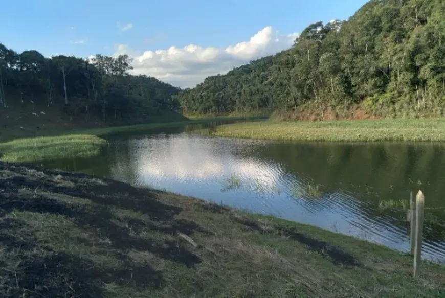
[[[279,233],[292,240],[298,241],[301,244],[306,245],[309,250],[316,251],[317,253],[323,256],[327,256],[328,259],[335,265],[352,266],[352,267],[363,266],[353,256],[341,250],[340,248],[332,246],[327,242],[320,241],[318,239],[304,235],[296,231],[296,229],[287,229],[275,226],[273,231],[264,231],[263,228],[259,226],[256,222],[251,221],[249,219],[239,218],[239,217],[231,217],[231,219],[239,224],[242,224],[243,226],[246,226],[250,230],[257,231],[262,234]]]

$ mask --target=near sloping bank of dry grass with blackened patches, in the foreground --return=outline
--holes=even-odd
[[[2,297],[445,294],[444,267],[313,226],[19,164],[0,185]]]

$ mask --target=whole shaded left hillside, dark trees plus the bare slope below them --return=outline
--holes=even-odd
[[[0,43],[2,131],[185,120],[175,113],[179,88],[133,76],[128,55],[92,59],[16,53]],[[88,125],[86,125],[88,124]],[[1,135],[0,135],[1,137]]]

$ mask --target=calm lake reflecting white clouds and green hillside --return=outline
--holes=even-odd
[[[214,125],[108,136],[99,156],[42,164],[271,214],[402,251],[409,249],[410,192],[422,190],[423,257],[445,263],[445,145],[290,143],[189,133]]]

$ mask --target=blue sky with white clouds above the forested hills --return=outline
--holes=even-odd
[[[283,41],[287,34],[301,32],[311,22],[318,20],[327,22],[336,18],[346,19],[365,2],[365,0],[5,1],[2,3],[2,11],[6,13],[0,18],[0,28],[2,28],[0,42],[17,52],[33,49],[45,56],[63,54],[87,57],[97,53],[104,55],[127,53],[137,60],[138,67],[135,67],[137,68],[135,72],[156,76],[180,85],[193,85],[202,80],[199,73],[202,75],[209,75],[215,71],[224,73],[233,66],[249,61],[248,59],[283,50],[289,46],[287,41]],[[224,50],[238,43],[249,42],[252,36],[268,26],[269,29],[263,38],[270,37],[273,42],[268,41],[266,44],[264,41],[261,47],[258,46],[254,50],[248,49],[249,44],[241,44],[242,49],[238,47],[236,53]],[[123,30],[124,28],[127,30]],[[275,42],[276,39],[282,40],[278,43]],[[256,41],[258,42],[260,41]],[[270,46],[272,43],[273,47]],[[184,56],[184,53],[181,53],[182,49],[189,44],[197,45],[199,49],[185,51],[188,55],[187,63],[179,63],[181,65],[176,65],[178,67],[171,73],[163,73],[160,68],[165,68],[168,64],[166,61],[170,59],[170,64],[172,61],[177,63],[178,57]],[[167,50],[171,46],[176,48],[170,52],[160,52],[159,55],[154,52]],[[209,47],[210,50],[206,52]],[[180,52],[175,49],[179,49]],[[242,55],[241,50],[245,52]],[[152,57],[149,51],[153,51],[155,57]],[[141,59],[138,57],[143,56],[144,52],[147,55],[143,61],[139,61]],[[189,55],[191,52],[195,54],[194,58]],[[154,63],[156,59],[158,62]],[[193,72],[192,66],[196,65],[192,60],[195,64],[205,60],[209,65],[205,70],[201,68]],[[218,70],[217,67],[210,67],[215,63],[221,63]],[[179,79],[179,68],[185,73],[192,72],[195,77]]]

